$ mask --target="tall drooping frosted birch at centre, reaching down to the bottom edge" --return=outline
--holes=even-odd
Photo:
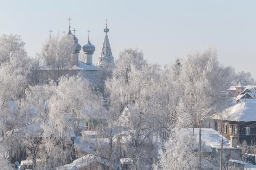
[[[154,157],[156,149],[151,139],[155,132],[153,108],[159,89],[160,68],[157,64],[147,64],[143,60],[143,53],[137,52],[137,49],[124,50],[117,63],[120,65],[117,64],[105,88],[110,96],[111,107],[119,107],[120,110],[123,104],[129,104],[130,127],[122,127],[125,130],[123,135],[128,139],[125,142],[125,156],[133,158],[133,169],[142,169],[151,164],[150,159]]]

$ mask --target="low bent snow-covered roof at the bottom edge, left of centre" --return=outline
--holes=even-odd
[[[93,162],[96,162],[96,161],[100,162],[100,163],[102,163],[106,166],[109,166],[109,162],[108,162],[107,159],[102,158],[100,156],[95,156],[95,155],[88,154],[88,155],[85,155],[81,158],[76,159],[71,164],[56,167],[56,170],[71,170],[71,169],[74,169],[74,166],[76,166],[76,168],[79,169],[79,168],[83,168],[84,166],[87,166],[90,163],[93,163]]]

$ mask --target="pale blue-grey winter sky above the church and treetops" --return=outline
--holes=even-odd
[[[108,19],[117,59],[124,48],[139,48],[149,62],[164,65],[188,51],[215,45],[220,62],[256,78],[256,0],[0,0],[0,34],[20,34],[30,56],[40,52],[49,30],[76,28],[78,43],[88,40],[97,63]],[[81,51],[82,52],[82,51]]]

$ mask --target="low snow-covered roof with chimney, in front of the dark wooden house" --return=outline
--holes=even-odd
[[[192,134],[193,128],[184,129],[187,133]],[[212,128],[201,128],[201,141],[205,143],[203,150],[205,152],[212,152],[213,149],[220,149],[221,134]],[[199,142],[199,128],[194,128],[194,136]],[[223,149],[242,149],[241,147],[230,147],[230,141],[223,136]]]

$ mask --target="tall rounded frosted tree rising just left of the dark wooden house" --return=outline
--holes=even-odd
[[[194,123],[199,124],[201,118],[225,106],[226,98],[221,92],[230,87],[233,70],[219,64],[217,50],[213,46],[187,53],[181,63],[182,70],[175,83],[183,100],[188,102]]]

